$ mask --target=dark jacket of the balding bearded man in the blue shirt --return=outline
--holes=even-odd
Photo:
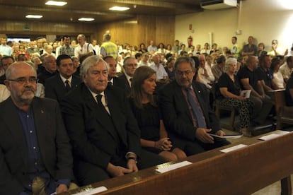
[[[34,98],[40,157],[53,179],[72,179],[71,146],[55,100]],[[28,145],[11,98],[0,104],[0,194],[19,194],[28,184]]]

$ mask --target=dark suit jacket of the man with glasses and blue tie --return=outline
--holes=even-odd
[[[202,83],[193,82],[195,95],[200,103],[202,112],[205,115],[207,128],[212,129],[212,133],[219,131],[219,120],[209,107],[209,92]],[[166,84],[159,91],[159,107],[163,114],[163,122],[169,134],[173,137],[195,141],[195,127],[193,119],[188,109],[188,103],[182,93],[180,85],[176,81]]]

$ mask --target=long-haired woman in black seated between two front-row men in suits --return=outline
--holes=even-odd
[[[157,153],[167,160],[185,158],[183,150],[175,148],[168,138],[159,108],[154,101],[156,71],[140,66],[132,78],[130,105],[141,131],[142,148]]]

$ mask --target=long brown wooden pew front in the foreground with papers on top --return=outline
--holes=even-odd
[[[192,165],[170,172],[160,174],[157,167],[151,167],[91,187],[107,187],[100,194],[251,194],[282,179],[282,194],[291,194],[293,133],[269,141],[259,141],[259,137],[243,141],[248,147],[229,153],[219,150],[239,143],[190,156],[186,160]]]

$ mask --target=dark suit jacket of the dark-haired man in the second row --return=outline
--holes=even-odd
[[[71,90],[76,88],[81,83],[79,76],[72,75]],[[65,85],[59,75],[59,73],[51,78],[48,78],[45,83],[45,97],[52,98],[61,102],[64,95],[67,93]]]

